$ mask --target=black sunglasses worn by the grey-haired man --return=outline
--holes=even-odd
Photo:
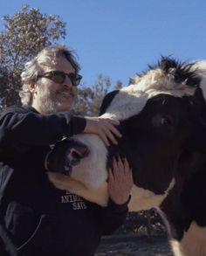
[[[68,78],[71,80],[72,86],[78,86],[82,79],[82,76],[78,73],[64,73],[63,71],[55,70],[39,74],[38,78],[47,78],[56,84],[63,84],[65,82],[66,76],[68,76]]]

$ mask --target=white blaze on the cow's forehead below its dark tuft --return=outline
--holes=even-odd
[[[196,90],[195,87],[185,86],[186,80],[182,84],[176,84],[172,70],[169,74],[165,74],[160,68],[148,71],[143,77],[136,76],[133,82],[130,86],[120,89],[102,117],[125,120],[139,114],[147,100],[157,94],[165,93],[182,97],[193,95]]]

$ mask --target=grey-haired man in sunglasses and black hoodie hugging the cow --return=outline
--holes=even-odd
[[[0,116],[0,255],[92,256],[100,237],[126,218],[127,160],[113,160],[105,208],[56,189],[45,171],[50,146],[63,137],[93,133],[109,145],[120,136],[117,121],[69,114],[80,79],[72,51],[46,47],[25,65],[23,107]]]

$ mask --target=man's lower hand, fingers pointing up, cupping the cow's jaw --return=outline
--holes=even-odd
[[[108,192],[115,204],[125,204],[133,187],[132,169],[127,159],[113,158],[113,170],[109,169]]]

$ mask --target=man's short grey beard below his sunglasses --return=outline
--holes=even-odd
[[[74,93],[69,90],[59,89],[51,92],[47,88],[38,91],[38,106],[41,113],[52,114],[70,111],[74,99]]]

